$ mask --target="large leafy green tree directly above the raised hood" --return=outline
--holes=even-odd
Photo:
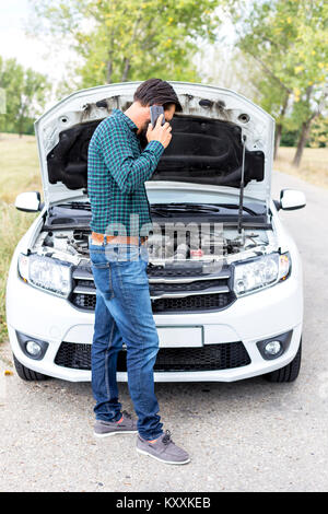
[[[224,1],[31,0],[33,31],[69,38],[83,87],[149,77],[197,81],[198,38],[215,40],[215,8]]]

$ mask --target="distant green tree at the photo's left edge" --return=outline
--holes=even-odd
[[[0,87],[5,92],[4,114],[0,114],[1,130],[20,137],[31,127],[45,105],[45,93],[51,85],[47,78],[31,68],[24,69],[15,59],[0,57]]]

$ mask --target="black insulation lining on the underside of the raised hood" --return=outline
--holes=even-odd
[[[49,183],[61,182],[69,189],[86,189],[87,147],[102,119],[75,125],[59,133],[59,142],[47,155]],[[201,116],[175,115],[172,140],[165,149],[152,180],[173,180],[239,187],[242,129],[231,122]],[[147,145],[140,139],[141,148]],[[265,154],[247,150],[245,185],[265,177]]]

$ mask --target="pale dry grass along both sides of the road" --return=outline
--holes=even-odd
[[[276,170],[300,176],[328,188],[328,149],[305,149],[300,168],[291,165],[295,149],[281,148]],[[12,253],[37,214],[17,211],[15,197],[23,191],[40,191],[42,179],[34,136],[20,138],[0,133],[0,342],[8,338],[5,282]]]

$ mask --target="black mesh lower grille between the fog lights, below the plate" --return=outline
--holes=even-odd
[[[75,370],[91,370],[91,344],[62,342],[55,363]],[[161,348],[157,352],[154,371],[211,371],[231,370],[250,364],[250,359],[242,341],[206,344],[201,348]],[[127,351],[118,353],[117,371],[127,371]]]

